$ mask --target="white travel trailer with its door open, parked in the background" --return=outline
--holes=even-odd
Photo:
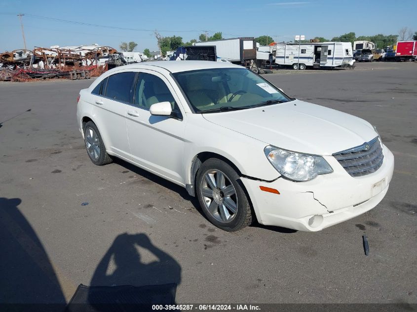
[[[299,62],[300,47],[300,62]],[[309,42],[277,43],[275,64],[292,66],[293,69],[305,69],[307,66],[315,68],[335,68],[353,64],[352,44],[350,42]]]

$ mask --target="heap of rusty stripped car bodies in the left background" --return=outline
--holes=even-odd
[[[126,61],[117,50],[97,44],[18,49],[0,53],[0,81],[88,79],[125,64]]]

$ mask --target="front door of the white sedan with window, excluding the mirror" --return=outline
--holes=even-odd
[[[185,113],[170,82],[160,73],[141,69],[134,105],[126,114],[132,161],[178,184],[184,182]],[[170,102],[176,116],[153,116],[152,104]]]

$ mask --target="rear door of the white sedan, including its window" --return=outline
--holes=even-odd
[[[100,94],[95,95],[93,118],[104,139],[106,149],[129,158],[126,110],[132,97],[135,72],[121,71],[103,80]]]

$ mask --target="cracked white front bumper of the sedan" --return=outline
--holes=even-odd
[[[360,215],[379,204],[394,171],[394,156],[383,145],[384,161],[375,173],[352,177],[333,156],[324,156],[334,172],[307,182],[282,177],[265,182],[242,177],[258,222],[300,231],[320,231]],[[278,194],[262,191],[274,188]]]

